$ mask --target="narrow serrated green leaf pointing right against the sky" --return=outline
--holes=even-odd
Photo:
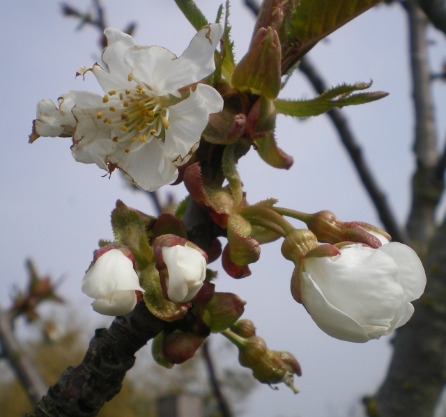
[[[374,102],[385,97],[388,93],[376,91],[373,93],[351,94],[353,91],[364,90],[371,86],[370,83],[356,83],[353,85],[342,84],[334,87],[325,93],[322,93],[313,100],[276,100],[277,113],[286,116],[305,118],[309,116],[318,116],[334,107],[354,106]]]

